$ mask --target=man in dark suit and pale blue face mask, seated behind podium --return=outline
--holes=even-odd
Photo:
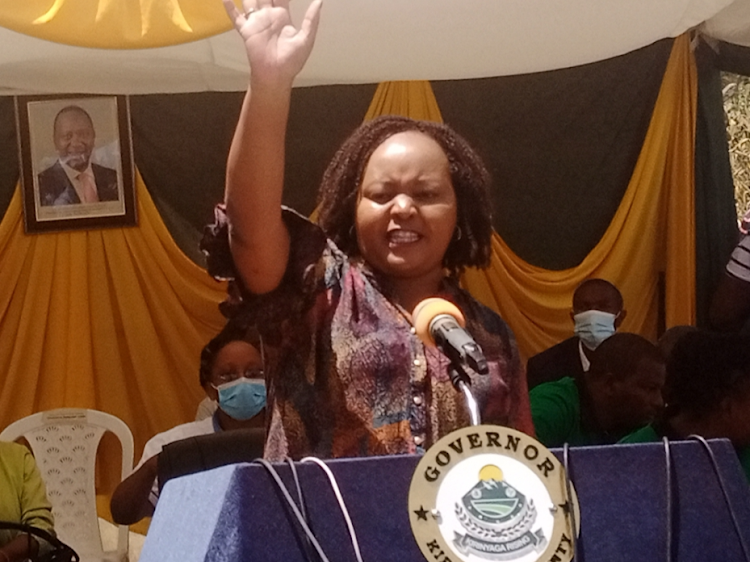
[[[587,279],[573,293],[575,335],[533,356],[526,366],[529,390],[563,377],[579,378],[589,370],[592,352],[625,319],[622,294],[609,281]]]

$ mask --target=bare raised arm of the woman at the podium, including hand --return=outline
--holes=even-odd
[[[250,63],[250,86],[227,161],[229,244],[245,286],[266,293],[281,282],[289,257],[281,220],[284,141],[292,83],[312,50],[321,0],[310,4],[298,28],[289,0],[244,0],[244,13],[232,0],[223,1]]]

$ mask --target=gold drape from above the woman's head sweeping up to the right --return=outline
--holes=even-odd
[[[572,335],[572,294],[589,277],[608,279],[622,291],[623,330],[656,337],[662,274],[667,326],[694,323],[696,98],[695,62],[683,35],[674,43],[623,200],[583,262],[563,271],[535,267],[495,233],[490,267],[464,274],[463,286],[508,322],[525,357]],[[365,120],[384,114],[442,122],[432,88],[422,81],[381,83]]]

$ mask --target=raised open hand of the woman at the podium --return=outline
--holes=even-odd
[[[291,86],[315,42],[322,0],[313,0],[299,28],[292,24],[289,0],[232,0],[224,8],[245,42],[253,85]]]

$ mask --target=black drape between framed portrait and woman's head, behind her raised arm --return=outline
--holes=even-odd
[[[312,212],[325,165],[362,122],[374,92],[374,85],[293,91],[286,205]],[[136,165],[173,237],[199,264],[198,242],[224,194],[226,159],[243,97],[207,92],[130,98]]]

